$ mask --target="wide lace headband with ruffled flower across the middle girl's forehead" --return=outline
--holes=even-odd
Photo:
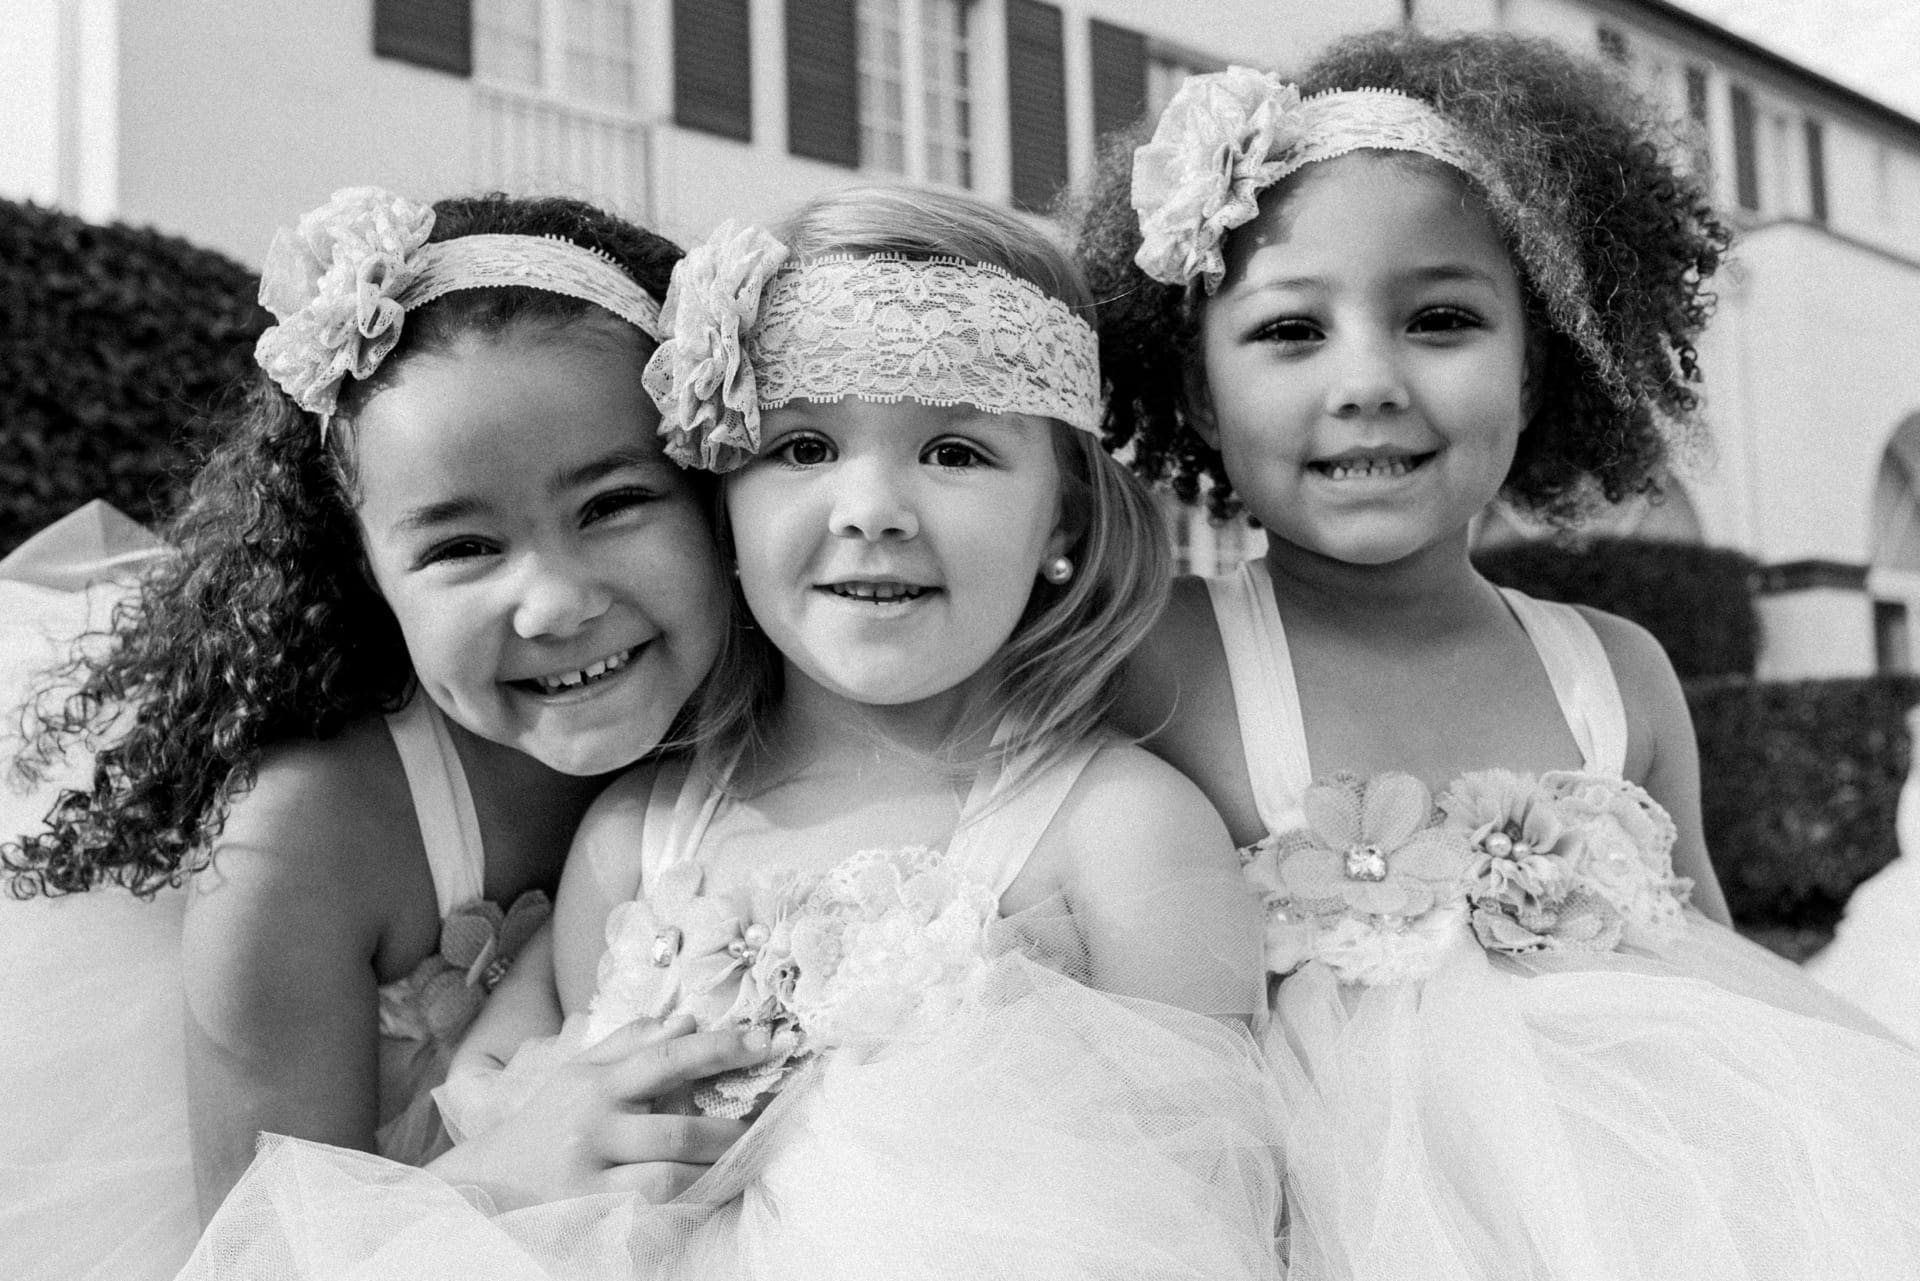
[[[760,447],[760,411],[795,399],[914,399],[1100,430],[1092,326],[1039,286],[960,259],[814,257],[722,225],[666,290],[643,382],[668,457],[726,472]]]

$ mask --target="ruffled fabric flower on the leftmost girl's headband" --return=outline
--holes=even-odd
[[[275,234],[259,303],[278,325],[259,336],[253,359],[301,409],[332,415],[340,382],[372,376],[399,342],[399,296],[432,230],[432,207],[348,186]]]

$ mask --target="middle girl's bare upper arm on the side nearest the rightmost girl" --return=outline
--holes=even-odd
[[[1091,985],[1200,1014],[1265,1001],[1260,903],[1227,828],[1183,774],[1110,747],[1043,841],[1087,947]]]

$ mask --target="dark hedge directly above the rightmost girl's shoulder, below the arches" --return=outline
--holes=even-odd
[[[1580,547],[1511,544],[1473,557],[1494,582],[1544,601],[1632,618],[1667,649],[1682,680],[1751,676],[1761,647],[1753,557],[1728,547],[1596,538]]]

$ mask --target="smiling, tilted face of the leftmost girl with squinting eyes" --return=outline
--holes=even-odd
[[[632,764],[726,616],[639,330],[591,315],[407,361],[353,421],[367,567],[447,716],[566,774]]]

